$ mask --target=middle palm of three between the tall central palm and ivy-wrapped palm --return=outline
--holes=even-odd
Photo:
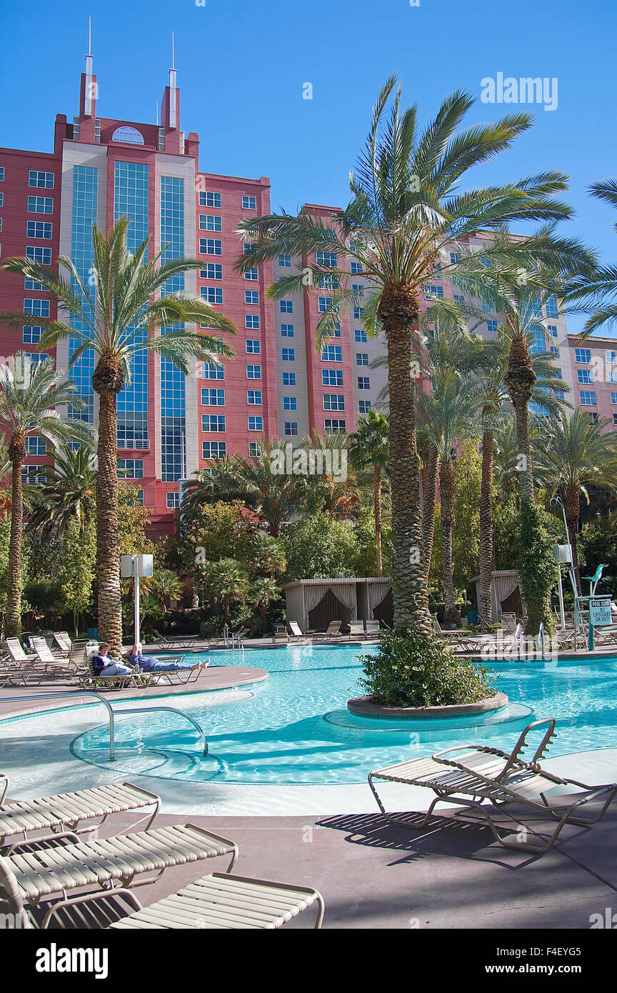
[[[452,529],[456,479],[456,446],[474,433],[473,417],[478,407],[477,389],[455,370],[436,371],[432,375],[432,393],[419,397],[419,415],[437,450],[439,491],[441,495],[441,559],[443,566],[443,624],[460,624],[454,603],[452,568]]]

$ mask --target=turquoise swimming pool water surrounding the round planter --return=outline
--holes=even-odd
[[[210,755],[177,715],[118,718],[116,769],[186,781],[239,783],[353,783],[405,758],[432,755],[456,744],[511,746],[533,720],[557,717],[551,756],[617,748],[617,658],[489,663],[510,705],[488,717],[439,722],[384,722],[352,715],[358,696],[359,653],[374,646],[251,649],[216,652],[218,664],[250,664],[270,678],[251,687],[171,698],[202,725]],[[108,732],[76,738],[73,754],[107,765]]]

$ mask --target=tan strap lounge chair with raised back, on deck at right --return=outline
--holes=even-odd
[[[526,762],[521,758],[528,747],[527,735],[534,728],[548,724],[540,746],[532,760]],[[565,824],[577,824],[585,827],[595,824],[604,815],[617,793],[617,783],[587,785],[577,780],[567,780],[548,773],[540,766],[540,759],[546,752],[554,737],[555,720],[535,721],[530,724],[519,737],[511,753],[485,746],[454,746],[437,752],[432,759],[413,759],[411,762],[399,763],[371,773],[369,785],[373,791],[381,812],[391,823],[410,827],[407,820],[388,814],[381,797],[377,793],[373,780],[401,782],[408,785],[427,786],[436,793],[431,806],[425,814],[422,823],[415,827],[424,827],[429,821],[434,806],[445,801],[457,803],[460,806],[477,811],[483,816],[495,839],[504,848],[516,851],[528,851],[535,855],[544,855],[555,844],[555,840]],[[463,752],[455,760],[454,753]],[[445,756],[448,756],[446,759]],[[551,803],[547,792],[559,786],[565,787],[561,799]],[[577,786],[578,792],[563,796],[568,787]],[[581,795],[580,793],[583,793]],[[558,794],[557,794],[558,795]],[[488,800],[488,804],[484,801]],[[590,817],[578,815],[580,808],[587,803],[601,800],[599,812]],[[539,810],[556,820],[555,830],[540,845],[527,844],[523,841],[508,842],[503,840],[493,822],[491,812],[501,813],[501,808],[510,803],[520,803]],[[518,824],[519,818],[516,819]],[[534,831],[539,835],[539,832]],[[539,835],[542,837],[542,835]]]

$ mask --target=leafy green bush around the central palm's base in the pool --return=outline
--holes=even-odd
[[[376,655],[361,655],[360,685],[373,703],[443,707],[492,696],[488,669],[452,654],[443,641],[419,632],[388,632]]]

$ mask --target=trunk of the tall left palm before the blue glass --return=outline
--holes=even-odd
[[[99,360],[100,364],[100,360]],[[96,576],[98,637],[110,650],[122,650],[122,601],[118,537],[116,393],[99,392],[98,472],[96,474]]]

